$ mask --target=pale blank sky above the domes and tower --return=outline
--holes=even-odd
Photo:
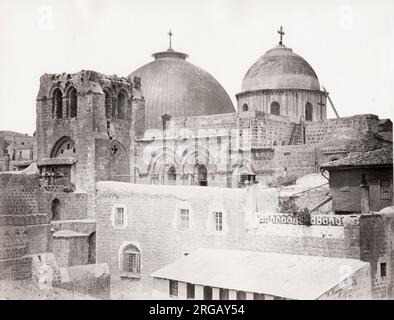
[[[313,67],[340,116],[394,119],[393,12],[392,0],[0,0],[0,130],[33,134],[41,74],[127,76],[168,48],[170,28],[173,48],[235,106],[283,25],[284,44]]]

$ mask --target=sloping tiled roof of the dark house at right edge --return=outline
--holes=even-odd
[[[387,147],[374,151],[357,153],[321,165],[321,168],[348,167],[348,166],[384,166],[393,164],[393,148]]]

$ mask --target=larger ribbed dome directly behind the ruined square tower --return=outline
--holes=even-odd
[[[169,49],[129,75],[141,78],[146,129],[161,128],[161,116],[197,116],[235,112],[230,97],[208,72]]]

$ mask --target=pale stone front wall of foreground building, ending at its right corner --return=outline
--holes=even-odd
[[[358,216],[345,218],[342,225],[285,224],[279,229],[269,227],[270,232],[264,228],[245,230],[244,189],[142,187],[101,182],[98,193],[97,261],[109,264],[112,292],[117,297],[132,296],[135,292],[149,294],[150,273],[199,247],[361,257]],[[191,209],[190,231],[177,230],[174,222],[177,208],[184,204]],[[115,205],[124,206],[127,213],[127,225],[121,229],[115,229],[111,222]],[[222,234],[208,231],[212,210],[221,210],[227,217],[226,231]],[[121,277],[119,250],[129,242],[141,251],[141,280]]]

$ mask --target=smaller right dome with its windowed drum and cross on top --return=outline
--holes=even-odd
[[[279,44],[254,63],[236,95],[239,112],[263,111],[290,121],[327,119],[327,93],[320,90],[319,79],[308,64],[283,44]]]

